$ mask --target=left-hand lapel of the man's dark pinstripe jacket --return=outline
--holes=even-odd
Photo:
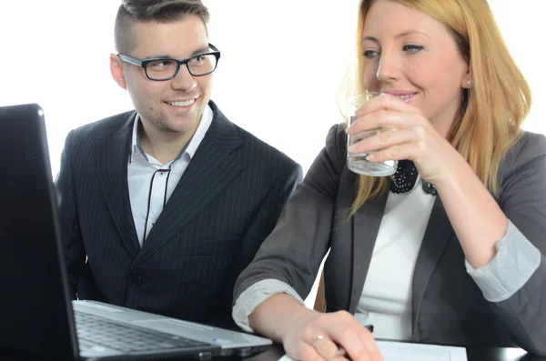
[[[108,133],[95,155],[98,183],[119,237],[131,256],[140,251],[127,185],[127,162],[135,117],[136,113],[131,113],[120,130],[113,129]]]

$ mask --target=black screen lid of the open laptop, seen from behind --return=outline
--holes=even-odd
[[[0,167],[0,347],[36,359],[74,359],[76,332],[39,105],[0,108]]]

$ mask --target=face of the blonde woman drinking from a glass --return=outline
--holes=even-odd
[[[468,65],[449,30],[393,0],[376,0],[363,37],[364,84],[397,95],[420,109],[446,136],[470,87]]]

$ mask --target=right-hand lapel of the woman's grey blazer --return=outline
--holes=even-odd
[[[425,230],[419,255],[417,256],[417,263],[413,272],[411,285],[411,319],[413,331],[415,331],[421,300],[423,299],[430,276],[438,265],[440,257],[443,255],[454,233],[455,231],[453,231],[450,218],[446,214],[440,196],[437,196],[434,206],[432,206],[429,224]],[[415,334],[415,332],[413,332],[413,334]]]

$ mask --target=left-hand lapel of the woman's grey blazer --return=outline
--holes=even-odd
[[[352,314],[356,312],[359,305],[388,196],[389,191],[369,200],[365,206],[360,207],[352,219],[353,279],[349,301],[349,312]]]

